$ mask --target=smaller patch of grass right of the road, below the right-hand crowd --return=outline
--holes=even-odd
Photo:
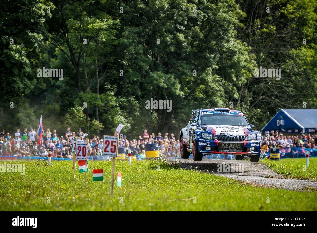
[[[270,169],[289,178],[301,180],[317,180],[317,158],[309,158],[309,166],[306,168],[306,158],[300,159],[263,159],[262,163]]]

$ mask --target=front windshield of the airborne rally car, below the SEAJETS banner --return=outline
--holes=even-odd
[[[201,125],[213,126],[249,126],[247,120],[241,115],[223,115],[223,114],[203,114],[201,116]]]

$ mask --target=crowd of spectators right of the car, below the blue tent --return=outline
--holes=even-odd
[[[305,153],[305,148],[317,149],[317,134],[285,136],[283,133],[273,130],[265,133],[260,145],[264,153],[269,152],[271,148],[279,148],[280,153],[290,153],[292,158],[298,158],[299,153]]]

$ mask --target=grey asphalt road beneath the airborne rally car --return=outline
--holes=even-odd
[[[307,190],[308,188],[317,189],[316,181],[284,178],[282,175],[277,174],[275,171],[259,162],[252,163],[245,160],[224,159],[203,159],[199,162],[196,162],[193,159],[177,159],[176,161],[173,161],[177,162],[184,169],[195,169],[201,172],[209,172],[217,176],[241,180],[263,187],[288,190]],[[222,168],[223,170],[221,170]]]

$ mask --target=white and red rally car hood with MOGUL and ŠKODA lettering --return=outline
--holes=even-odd
[[[203,126],[204,127],[204,126]],[[239,135],[253,134],[253,130],[249,126],[205,126],[206,131],[214,135],[227,135],[229,137]]]

